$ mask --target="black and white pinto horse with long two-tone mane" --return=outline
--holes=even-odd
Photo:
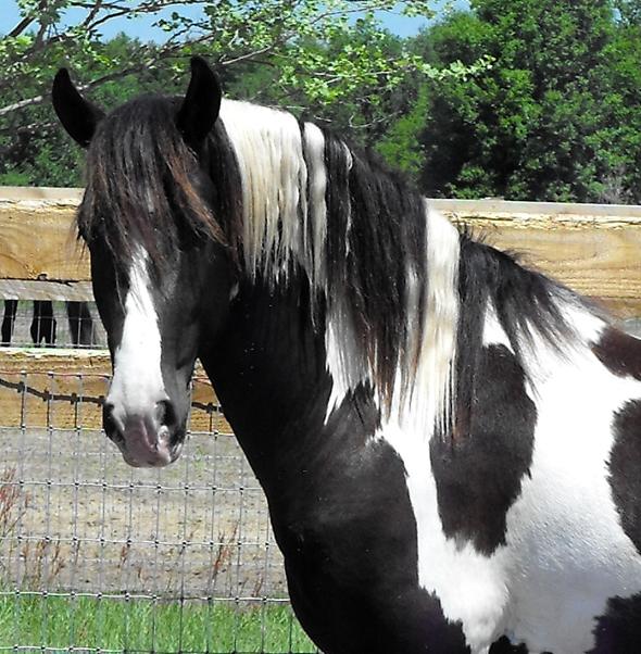
[[[326,654],[641,652],[641,342],[311,122],[184,98],[104,114],[77,225],[133,466],[180,454],[197,357]]]

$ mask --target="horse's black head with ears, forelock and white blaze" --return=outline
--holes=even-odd
[[[104,430],[133,466],[179,456],[194,362],[229,304],[231,257],[210,155],[221,96],[200,58],[184,98],[138,98],[109,114],[66,70],[53,83],[62,125],[87,149],[77,224],[113,365]]]

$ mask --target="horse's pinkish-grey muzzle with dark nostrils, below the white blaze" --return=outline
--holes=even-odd
[[[158,402],[149,413],[120,415],[114,404],[103,406],[104,432],[130,466],[163,467],[180,456],[185,429],[178,426],[167,401]]]

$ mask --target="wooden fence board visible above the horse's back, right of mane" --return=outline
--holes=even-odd
[[[435,200],[501,250],[621,317],[641,315],[641,206]]]

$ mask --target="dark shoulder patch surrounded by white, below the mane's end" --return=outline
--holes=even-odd
[[[445,534],[490,555],[505,543],[506,514],[529,473],[537,411],[525,374],[504,345],[481,353],[464,438],[430,444]]]

